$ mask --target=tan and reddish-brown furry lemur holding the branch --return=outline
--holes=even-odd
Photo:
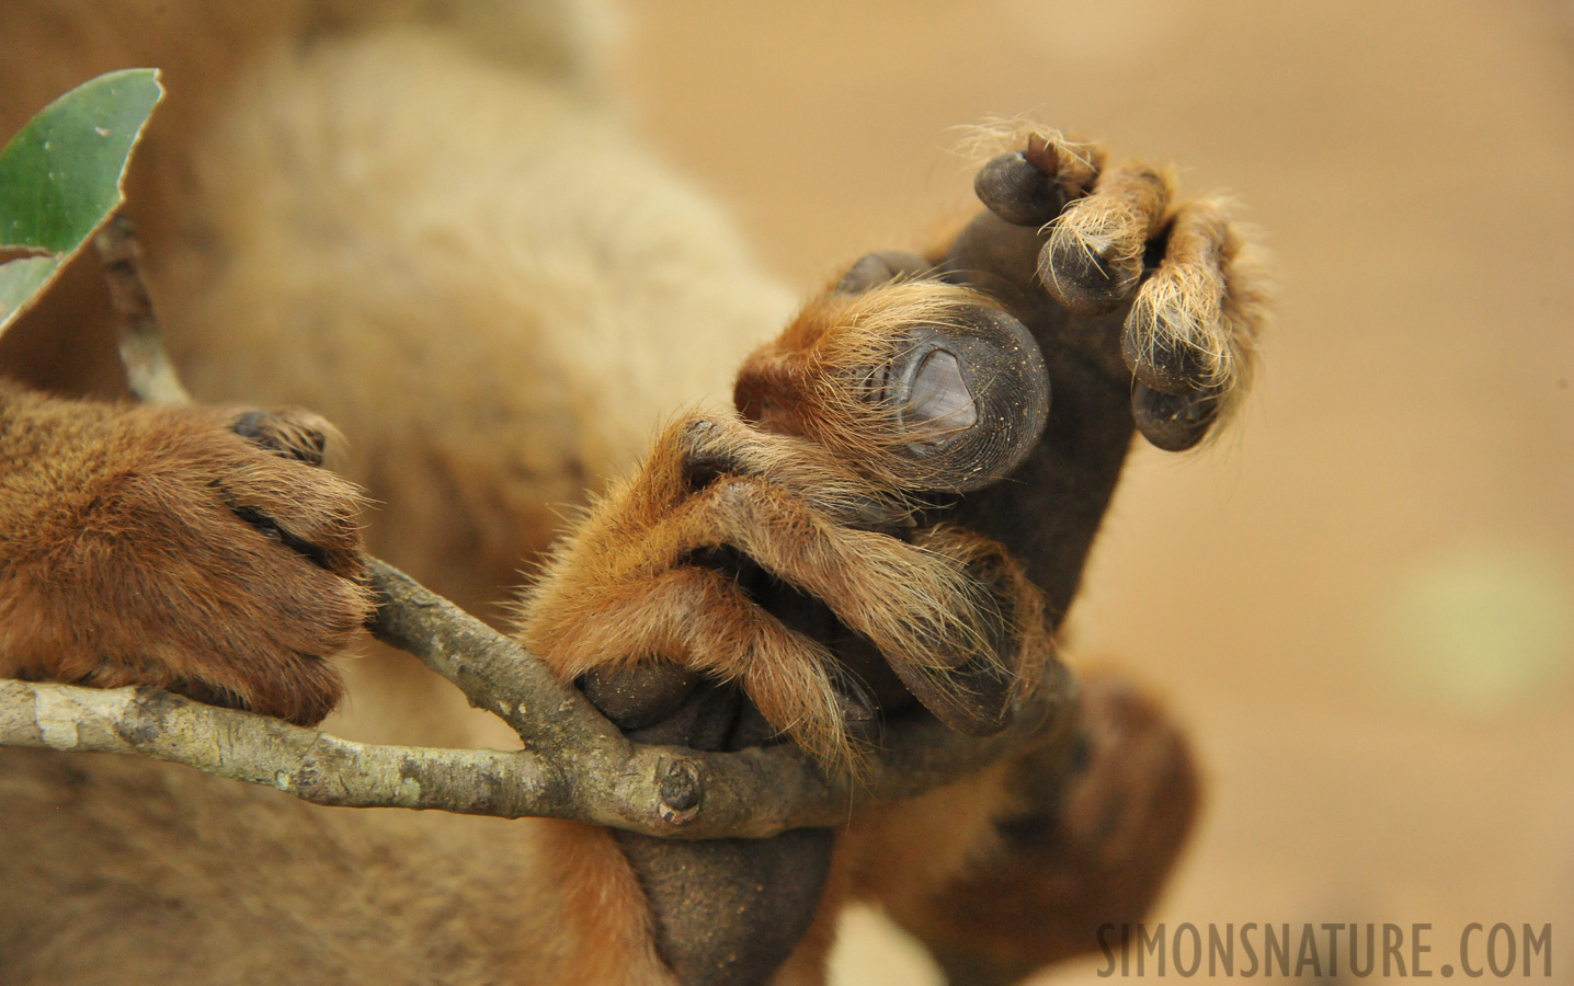
[[[658,709],[656,727],[628,727],[675,730],[694,745],[749,742],[737,730],[702,741],[704,714],[674,711],[732,689],[727,714],[756,716],[752,741],[784,731],[845,766],[858,738],[825,670],[842,643],[889,660],[894,678],[863,695],[877,711],[926,706],[988,728],[990,703],[1015,687],[1009,675],[996,694],[981,671],[968,679],[973,692],[962,689],[974,698],[955,700],[974,645],[937,657],[933,642],[881,635],[910,593],[859,602],[829,583],[815,591],[814,580],[837,569],[815,560],[804,525],[823,533],[825,550],[845,549],[848,565],[875,550],[900,572],[929,572],[940,609],[962,613],[937,624],[941,643],[976,643],[968,632],[988,629],[959,602],[984,585],[1011,613],[1011,646],[990,646],[1011,653],[1004,671],[1031,676],[1050,659],[1050,632],[1132,434],[1122,344],[1138,370],[1136,421],[1176,447],[1206,431],[1250,365],[1258,299],[1218,206],[1176,206],[1160,171],[1103,168],[1086,145],[1022,131],[1003,149],[1020,149],[1028,171],[992,165],[996,178],[1007,168],[1006,190],[981,186],[993,214],[911,269],[897,261],[870,274],[861,263],[793,316],[790,296],[716,209],[652,164],[604,107],[586,17],[579,5],[551,2],[279,0],[197,13],[153,0],[19,0],[0,11],[0,82],[25,96],[8,102],[14,115],[0,126],[14,131],[98,71],[165,66],[172,96],[142,151],[132,208],[189,385],[209,403],[296,404],[331,418],[353,443],[346,475],[379,502],[368,546],[496,620],[502,612],[485,607],[546,549],[554,505],[582,502],[586,487],[634,465],[663,415],[724,399],[745,354],[787,324],[745,363],[741,418],[707,410],[671,425],[639,473],[552,555],[519,629],[587,689],[595,675],[653,659],[708,671],[700,692]],[[1023,201],[1048,211],[1011,214]],[[1042,274],[1072,270],[1086,245],[1039,231],[1061,215],[1075,219],[1058,231],[1127,250],[1105,258],[1110,270],[1124,272],[1135,248],[1135,272],[1103,278],[1100,297],[1045,294]],[[1157,259],[1144,267],[1151,244]],[[1036,267],[1040,256],[1050,267]],[[1086,267],[1077,274],[1077,285],[1097,288]],[[66,330],[105,338],[107,313],[83,300],[91,270],[74,277],[0,341],[9,376],[74,395],[109,379],[102,366],[94,379],[91,359],[50,359],[50,340]],[[1140,280],[1152,289],[1138,294]],[[951,326],[935,313],[963,310],[1026,326],[1051,381],[1042,443],[987,489],[914,480],[899,450],[870,443],[875,432],[828,425],[841,418],[826,395],[847,385],[826,368],[867,370],[872,311],[894,327],[875,340],[889,363],[908,327]],[[853,340],[853,355],[826,357],[837,340]],[[878,410],[877,431],[889,409]],[[321,717],[338,687],[323,659],[367,605],[345,547],[354,492],[274,454],[280,443],[299,451],[288,436],[258,440],[235,421],[231,412],[109,410],[0,388],[0,450],[9,453],[0,671],[151,681],[299,722]],[[847,500],[850,489],[863,499]],[[927,508],[911,505],[914,491],[930,497]],[[858,514],[870,503],[886,513]],[[337,547],[327,563],[290,555],[288,539],[271,539],[257,516]],[[771,517],[789,516],[801,524],[771,533]],[[216,544],[227,550],[209,550]],[[778,590],[763,602],[729,594],[718,579],[726,565],[693,563],[696,549],[718,547],[807,590],[834,610],[826,632],[864,643],[789,624]],[[146,582],[137,599],[162,593],[159,604],[121,605],[126,572],[153,579],[153,560],[165,557],[181,560],[184,588]],[[628,565],[612,571],[608,557]],[[205,577],[211,588],[198,588]],[[96,594],[79,591],[90,582]],[[181,609],[205,593],[224,605]],[[74,635],[58,629],[83,601],[118,620],[113,654],[104,653],[105,616],[79,616]],[[617,605],[633,618],[609,620]],[[286,612],[312,618],[293,623]],[[921,626],[924,615],[911,613]],[[206,637],[183,635],[214,621]],[[291,635],[297,623],[305,638]],[[675,624],[727,632],[702,640]],[[150,631],[157,645],[137,651]],[[255,642],[258,653],[224,640]],[[332,731],[507,741],[408,659],[378,651],[340,667],[348,701],[327,720]],[[1195,789],[1174,730],[1116,684],[1092,682],[1086,708],[1089,764],[1070,788],[1047,788],[1048,764],[1029,755],[834,838],[789,833],[733,848],[567,822],[334,811],[154,763],[5,750],[0,970],[16,983],[817,983],[837,911],[867,900],[930,944],[957,981],[1011,981],[1092,947],[1099,920],[1135,918],[1190,821]],[[745,901],[763,918],[707,939],[707,915],[738,901],[693,900],[674,876],[693,860],[719,874],[774,874],[767,898]],[[697,885],[719,895],[722,884]],[[993,885],[1011,885],[1015,915],[990,907]]]

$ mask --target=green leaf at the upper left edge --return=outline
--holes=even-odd
[[[157,69],[99,75],[44,107],[0,151],[0,332],[93,236],[120,203],[121,181],[153,107]]]

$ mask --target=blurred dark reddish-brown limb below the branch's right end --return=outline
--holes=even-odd
[[[1083,742],[1067,775],[1058,750],[1003,778],[1004,810],[970,865],[886,909],[935,953],[952,986],[1006,986],[1099,948],[1100,925],[1154,904],[1196,815],[1182,733],[1152,700],[1086,679]]]

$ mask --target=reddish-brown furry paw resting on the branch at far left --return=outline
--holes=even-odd
[[[219,415],[24,398],[41,442],[0,476],[30,503],[0,546],[0,651],[27,678],[154,684],[310,725],[327,657],[370,615],[359,494],[315,469],[302,412]]]

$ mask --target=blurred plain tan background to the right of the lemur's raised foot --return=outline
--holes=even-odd
[[[1217,448],[1136,453],[1073,616],[1209,774],[1155,920],[1431,922],[1434,969],[1469,922],[1552,923],[1574,980],[1574,8],[628,14],[631,115],[803,289],[963,206],[949,127],[990,115],[1239,195],[1283,283],[1267,370]],[[933,977],[850,922],[839,983]]]

